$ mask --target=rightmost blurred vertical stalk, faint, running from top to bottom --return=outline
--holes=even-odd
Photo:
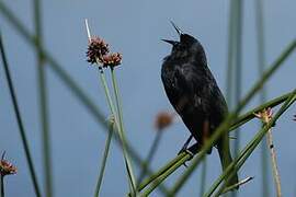
[[[255,0],[255,30],[258,43],[258,70],[261,76],[265,69],[265,44],[264,44],[264,21],[263,21],[263,1]],[[260,102],[266,101],[266,89],[262,88],[260,92]],[[261,172],[262,172],[262,195],[270,196],[269,190],[269,161],[266,138],[261,142]]]

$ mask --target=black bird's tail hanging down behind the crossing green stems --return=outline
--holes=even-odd
[[[220,157],[220,162],[223,166],[223,171],[227,169],[227,166],[232,162],[230,148],[229,148],[229,137],[225,135],[217,143],[217,149]],[[227,186],[231,186],[238,183],[238,174],[236,173],[228,182]],[[236,187],[238,189],[239,187]]]

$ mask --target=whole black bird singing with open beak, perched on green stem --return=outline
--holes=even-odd
[[[172,51],[163,59],[161,80],[170,103],[183,119],[191,137],[183,147],[186,149],[192,136],[203,146],[213,131],[221,124],[228,107],[215,78],[207,67],[206,55],[201,43],[172,23],[180,40],[162,39],[172,45]],[[228,134],[215,143],[223,170],[232,161]],[[212,152],[212,149],[208,153]],[[236,174],[228,186],[238,183]]]

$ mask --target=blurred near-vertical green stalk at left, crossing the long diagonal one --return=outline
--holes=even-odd
[[[34,0],[34,22],[36,43],[39,46],[43,45],[43,30],[42,30],[42,14],[41,14],[41,0]],[[38,84],[38,99],[39,99],[39,117],[42,125],[42,141],[43,141],[43,162],[45,174],[45,194],[47,197],[53,196],[53,164],[52,164],[52,151],[49,140],[49,124],[48,124],[48,109],[47,109],[47,91],[46,91],[46,72],[45,72],[45,59],[43,54],[37,53],[37,84]]]

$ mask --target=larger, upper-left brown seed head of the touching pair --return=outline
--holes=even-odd
[[[109,53],[109,44],[106,44],[102,38],[95,36],[89,42],[89,47],[87,51],[88,62],[95,63],[96,60],[102,62],[102,57]]]

